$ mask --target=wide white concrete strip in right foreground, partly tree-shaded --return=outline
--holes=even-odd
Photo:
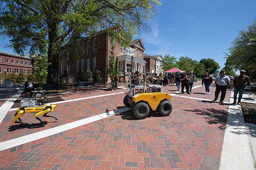
[[[230,98],[230,103],[233,103],[233,98]],[[219,167],[220,170],[255,169],[244,117],[239,105],[229,105]]]

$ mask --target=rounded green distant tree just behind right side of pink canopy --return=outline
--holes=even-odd
[[[189,57],[180,57],[179,61],[176,63],[177,64],[177,68],[186,71],[186,72],[190,72],[195,70],[195,63],[196,61],[192,60]]]

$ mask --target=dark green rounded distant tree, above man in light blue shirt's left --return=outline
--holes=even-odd
[[[199,61],[200,63],[204,64],[205,71],[209,73],[209,75],[215,75],[218,74],[218,69],[220,69],[219,63],[217,63],[214,59],[211,58],[203,58]]]

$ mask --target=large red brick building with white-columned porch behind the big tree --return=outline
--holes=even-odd
[[[78,76],[79,69],[81,71],[93,70],[96,68],[100,71],[102,82],[109,82],[108,77],[108,62],[113,47],[115,58],[119,61],[119,75],[124,71],[135,72],[145,71],[145,60],[143,60],[143,53],[145,47],[141,39],[133,40],[129,47],[124,47],[115,40],[112,40],[106,34],[106,31],[100,31],[94,37],[86,37],[81,41],[81,47],[84,50],[83,54],[79,54],[80,58],[74,60],[69,53],[62,57],[59,64],[59,74],[67,72],[68,77]],[[133,57],[133,70],[132,70]]]

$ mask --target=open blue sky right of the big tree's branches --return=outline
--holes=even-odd
[[[200,61],[212,58],[223,68],[224,54],[238,30],[256,18],[255,0],[160,0],[161,6],[148,23],[151,32],[142,33],[145,54],[169,54]],[[239,74],[239,71],[237,71]]]

